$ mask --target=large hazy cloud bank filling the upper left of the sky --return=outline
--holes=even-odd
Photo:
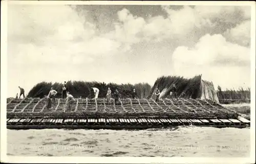
[[[15,63],[87,63],[121,46],[69,6],[12,5],[8,11],[8,51]]]

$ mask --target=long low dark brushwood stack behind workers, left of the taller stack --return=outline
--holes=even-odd
[[[86,82],[86,81],[68,81],[66,83],[67,90],[70,91],[74,98],[93,98],[94,92],[92,87],[96,87],[100,90],[98,97],[106,97],[108,88],[112,90],[112,93],[117,89],[120,93],[121,98],[131,98],[131,93],[133,89],[136,89],[139,98],[146,98],[150,95],[151,86],[148,83],[138,83],[138,84],[115,84],[115,83],[100,83],[100,82]],[[51,87],[55,89],[58,93],[56,98],[61,97],[62,84],[61,83],[48,83],[41,82],[36,84],[28,93],[29,98],[43,98],[48,95]]]

